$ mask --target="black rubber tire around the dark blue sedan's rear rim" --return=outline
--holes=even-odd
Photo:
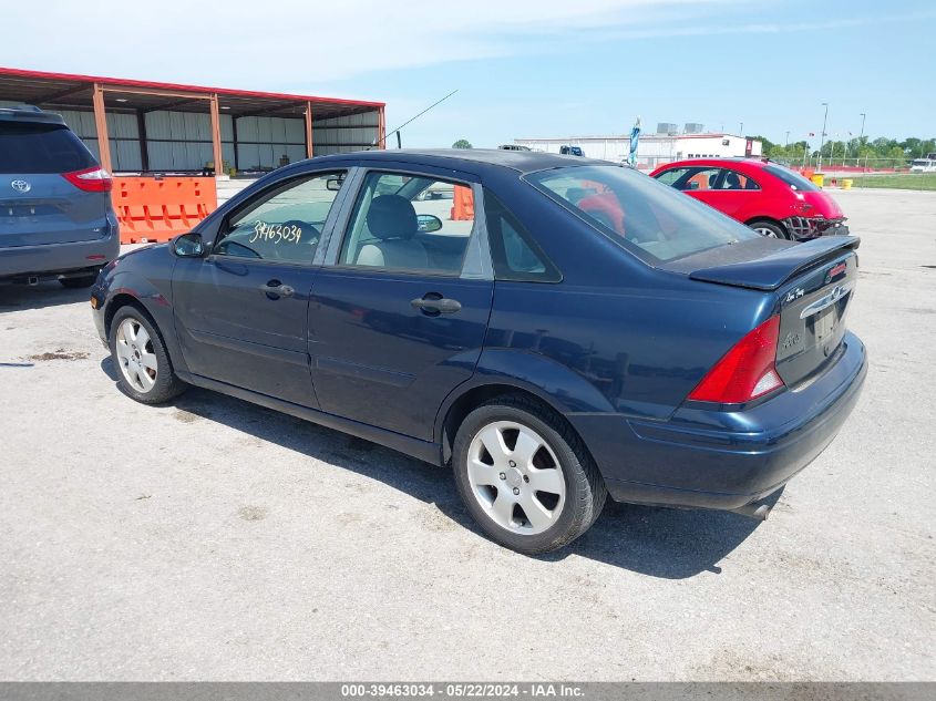
[[[521,424],[536,432],[562,467],[564,503],[555,523],[541,533],[525,535],[497,524],[473,492],[467,467],[471,444],[482,429],[501,421]],[[555,413],[522,396],[492,400],[465,416],[455,435],[452,468],[459,494],[479,526],[494,542],[526,555],[548,553],[578,538],[598,518],[607,497],[604,480],[578,435]],[[506,482],[504,486],[507,486]]]

